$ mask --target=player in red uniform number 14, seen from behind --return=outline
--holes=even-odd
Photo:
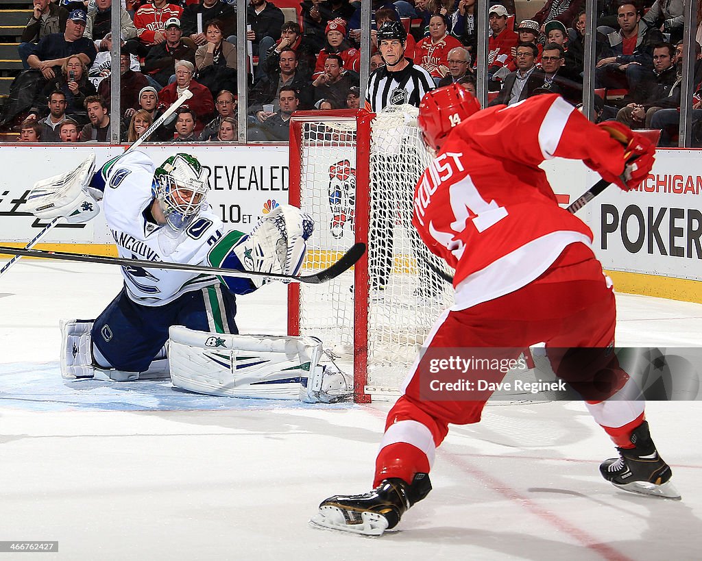
[[[428,248],[456,269],[456,305],[430,331],[425,356],[437,356],[437,349],[490,349],[516,358],[515,349],[545,342],[553,370],[578,388],[617,447],[619,457],[600,466],[603,477],[628,491],[680,498],[649,435],[644,403],[621,399],[630,395],[630,384],[607,351],[614,346],[614,293],[592,252],[592,232],[559,207],[538,168],[554,157],[579,159],[628,191],[648,175],[654,147],[621,123],[590,123],[558,95],[479,111],[477,100],[455,84],[425,95],[418,123],[437,157],[416,186],[413,224]],[[571,351],[576,360],[569,360]],[[599,396],[588,379],[577,377],[582,366],[573,363],[583,356],[609,357],[610,385]],[[491,392],[432,400],[421,372],[418,359],[388,413],[375,489],[326,499],[314,525],[371,535],[395,527],[431,490],[428,473],[449,423],[480,420]],[[475,381],[483,374],[469,370],[463,377]]]

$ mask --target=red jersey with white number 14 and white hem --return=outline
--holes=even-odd
[[[624,168],[621,144],[562,97],[538,95],[478,111],[425,170],[413,224],[456,269],[456,309],[509,294],[541,276],[567,245],[592,242],[538,168],[556,156],[615,175]]]

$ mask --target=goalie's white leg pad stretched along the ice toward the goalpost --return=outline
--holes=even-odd
[[[325,381],[322,354],[314,337],[208,333],[180,325],[171,327],[168,346],[174,386],[210,396],[307,402],[325,400],[326,388],[338,392],[338,380]]]

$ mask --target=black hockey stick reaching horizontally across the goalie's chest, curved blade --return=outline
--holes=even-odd
[[[82,253],[69,253],[62,251],[32,250],[27,248],[8,248],[0,245],[0,253],[18,255],[21,257],[40,257],[41,259],[60,259],[63,261],[76,261],[85,263],[102,263],[107,265],[144,267],[145,269],[175,269],[191,273],[208,273],[211,275],[235,276],[241,278],[270,278],[272,280],[286,280],[292,283],[322,284],[338,277],[350,269],[366,251],[366,245],[355,243],[338,261],[326,269],[311,275],[283,275],[280,273],[259,273],[258,271],[237,271],[237,269],[221,269],[206,265],[189,265],[187,263],[168,263],[146,261],[145,259],[125,259],[124,257],[104,257],[102,255],[89,255]]]

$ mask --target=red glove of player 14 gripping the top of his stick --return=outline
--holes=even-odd
[[[585,160],[585,164],[599,173],[603,180],[614,183],[624,191],[630,191],[649,175],[654,165],[656,147],[647,137],[618,121],[604,121],[597,126],[624,147],[624,169],[621,175],[616,175],[598,168],[591,161]]]

